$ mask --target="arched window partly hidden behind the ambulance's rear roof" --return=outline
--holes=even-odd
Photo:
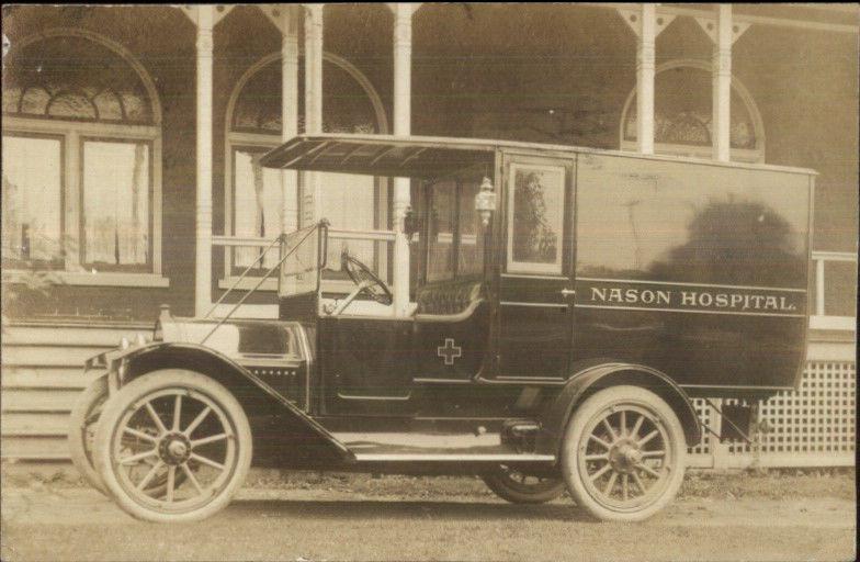
[[[654,79],[654,144],[658,154],[710,158],[712,155],[711,67],[675,60],[657,68]],[[732,159],[765,160],[765,131],[755,101],[732,79],[729,144]],[[636,90],[627,95],[621,119],[621,148],[636,149]]]

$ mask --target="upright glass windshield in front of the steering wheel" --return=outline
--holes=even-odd
[[[285,234],[281,243],[279,296],[314,293],[319,270],[326,267],[328,226],[325,222]]]

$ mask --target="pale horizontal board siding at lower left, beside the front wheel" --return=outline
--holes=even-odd
[[[66,460],[69,413],[97,373],[83,362],[151,325],[19,324],[2,339],[0,452],[4,459]]]

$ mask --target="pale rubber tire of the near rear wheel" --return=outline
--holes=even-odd
[[[672,459],[676,459],[666,490],[655,501],[637,512],[616,512],[598,503],[587,492],[577,467],[577,449],[585,426],[602,409],[611,404],[622,402],[634,402],[645,406],[661,419],[671,441],[669,447],[671,447]],[[640,386],[612,386],[597,392],[586,398],[581,405],[576,406],[562,441],[562,474],[576,505],[585,508],[593,518],[602,521],[642,521],[666,507],[678,494],[687,467],[686,456],[687,442],[681,423],[675,411],[663,398]]]

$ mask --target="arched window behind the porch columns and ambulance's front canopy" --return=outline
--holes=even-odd
[[[384,133],[385,111],[370,81],[346,60],[325,54],[322,58],[322,130],[326,133]],[[304,91],[299,65],[298,91]],[[233,236],[272,239],[285,225],[298,225],[298,194],[284,189],[278,170],[261,168],[259,157],[281,143],[281,58],[273,53],[239,80],[227,109],[226,138],[226,232]],[[298,97],[298,131],[304,132],[304,97]],[[319,173],[318,214],[331,227],[355,231],[387,228],[387,184],[367,176]],[[284,204],[283,198],[287,201]],[[290,216],[284,217],[283,213]],[[329,244],[329,265],[340,262],[347,245],[351,254],[385,272],[386,246],[372,240],[337,240]],[[254,248],[234,248],[226,265],[235,276],[258,256]],[[272,252],[270,252],[272,254]],[[278,261],[267,256],[264,267]],[[222,284],[228,285],[223,282]]]

